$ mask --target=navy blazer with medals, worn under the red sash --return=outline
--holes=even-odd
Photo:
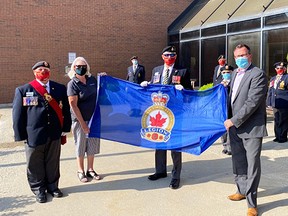
[[[59,103],[62,103],[63,127],[56,112],[29,83],[17,87],[13,100],[12,118],[15,141],[27,140],[31,147],[45,144],[50,138],[56,140],[62,132],[70,132],[71,114],[66,93],[66,87],[62,84],[49,81],[50,95]],[[33,96],[38,102],[25,105],[25,98]]]

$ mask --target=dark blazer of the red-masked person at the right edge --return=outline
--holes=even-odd
[[[270,79],[266,104],[276,109],[288,109],[288,74],[282,75],[276,89],[274,88],[275,80],[276,76]]]

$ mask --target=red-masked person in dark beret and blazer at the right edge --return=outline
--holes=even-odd
[[[274,113],[274,142],[287,142],[288,131],[288,75],[287,64],[277,62],[274,64],[276,76],[270,79],[267,95],[267,106],[273,108]]]

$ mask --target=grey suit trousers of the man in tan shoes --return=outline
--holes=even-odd
[[[236,128],[229,129],[233,173],[237,193],[246,196],[249,208],[257,207],[257,189],[261,176],[262,137],[240,138]]]

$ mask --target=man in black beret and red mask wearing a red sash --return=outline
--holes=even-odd
[[[63,196],[58,188],[61,135],[70,131],[71,115],[66,87],[50,80],[49,63],[37,62],[32,70],[35,79],[15,90],[13,129],[15,141],[25,143],[30,188],[44,203],[46,191]]]

